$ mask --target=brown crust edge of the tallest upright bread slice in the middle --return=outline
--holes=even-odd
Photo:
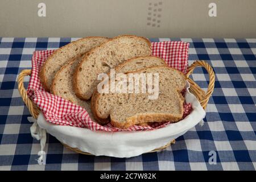
[[[106,42],[100,44],[100,46],[97,46],[93,49],[91,49],[89,52],[87,52],[85,54],[85,56],[83,57],[83,59],[81,60],[81,62],[77,65],[76,69],[75,69],[75,72],[74,72],[74,75],[73,75],[73,89],[76,93],[76,96],[81,98],[81,99],[84,99],[84,100],[89,100],[90,97],[86,97],[86,96],[83,96],[83,94],[80,92],[80,89],[79,89],[79,85],[78,85],[78,81],[77,81],[77,75],[79,73],[79,67],[81,66],[82,63],[84,63],[84,61],[87,61],[87,58],[88,56],[90,55],[90,53],[92,53],[93,51],[97,50],[99,47],[101,47],[102,45],[105,45],[107,43],[109,43],[110,41],[114,40],[114,39],[118,39],[120,37],[125,37],[125,36],[133,36],[135,38],[141,38],[141,39],[144,39],[146,40],[148,46],[150,46],[150,49],[151,49],[151,52],[152,52],[152,47],[151,47],[151,42],[150,40],[146,39],[146,38],[143,38],[142,36],[135,36],[135,35],[119,35],[119,36],[116,36],[115,38],[112,38],[112,39],[109,39],[107,40]]]

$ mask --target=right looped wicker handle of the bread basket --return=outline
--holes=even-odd
[[[209,85],[206,93],[199,87],[199,85],[197,85],[191,78],[189,78],[189,75],[191,75],[194,69],[197,67],[204,67],[209,74]],[[197,97],[201,106],[206,109],[207,103],[210,96],[212,96],[214,89],[215,75],[212,67],[210,67],[210,65],[206,61],[197,60],[188,67],[185,76],[187,77],[187,80],[191,85],[191,88],[189,90]]]

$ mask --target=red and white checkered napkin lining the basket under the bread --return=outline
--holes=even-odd
[[[185,72],[188,65],[189,43],[184,42],[154,42],[152,55],[162,57],[170,67]],[[46,92],[39,80],[39,70],[47,57],[54,51],[35,51],[32,56],[32,72],[28,84],[28,97],[42,111],[46,121],[55,125],[84,127],[93,131],[139,131],[153,130],[168,125],[170,122],[152,123],[151,126],[131,126],[129,129],[119,129],[110,123],[101,126],[90,119],[87,111],[61,97]],[[191,104],[184,104],[184,117],[190,113]]]

